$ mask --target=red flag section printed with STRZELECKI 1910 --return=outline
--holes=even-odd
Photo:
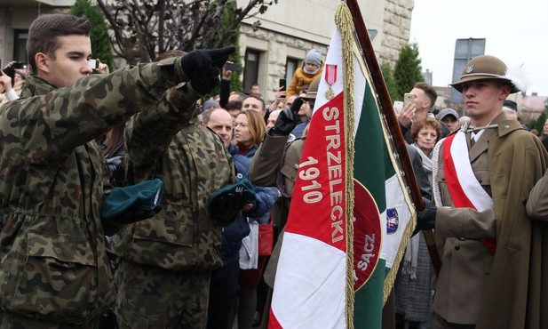
[[[341,251],[346,250],[344,127],[340,92],[314,111],[285,228]]]

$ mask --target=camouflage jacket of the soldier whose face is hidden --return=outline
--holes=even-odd
[[[126,125],[128,182],[160,178],[163,209],[116,234],[115,253],[163,269],[217,268],[220,232],[206,203],[234,183],[233,160],[217,134],[192,121],[195,98],[184,89],[170,96],[171,111],[151,108]]]

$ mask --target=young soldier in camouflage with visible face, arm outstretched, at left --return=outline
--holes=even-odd
[[[93,140],[143,108],[194,101],[193,88],[218,84],[206,51],[186,56],[190,71],[177,58],[90,76],[90,28],[71,15],[38,17],[27,45],[36,76],[0,108],[2,328],[94,327],[114,289],[100,219],[109,185]]]

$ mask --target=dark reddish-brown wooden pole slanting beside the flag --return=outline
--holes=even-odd
[[[367,67],[369,68],[371,81],[377,91],[380,109],[385,115],[388,129],[393,138],[394,147],[400,155],[401,169],[405,174],[404,178],[408,182],[410,197],[413,200],[417,211],[421,211],[425,209],[425,202],[423,201],[420,189],[418,188],[415,173],[413,173],[413,166],[409,160],[405,140],[403,140],[403,134],[400,129],[400,123],[398,122],[398,118],[393,110],[392,100],[390,99],[390,95],[386,89],[385,79],[377,62],[377,55],[373,50],[373,45],[369,39],[369,32],[365,26],[363,18],[361,17],[360,6],[358,5],[357,0],[346,0],[346,5],[352,13],[356,34],[358,36],[358,43],[361,46],[361,51],[365,58],[365,62],[367,63]],[[437,276],[440,273],[441,259],[433,237],[433,231],[424,230],[423,234],[425,236],[426,245],[428,245],[428,253],[430,253],[430,259],[432,260],[433,268]]]

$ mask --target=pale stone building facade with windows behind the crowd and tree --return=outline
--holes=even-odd
[[[246,0],[237,0],[247,4]],[[68,9],[75,0],[0,0],[0,59],[27,61],[28,27],[40,13]],[[395,63],[401,47],[409,42],[414,0],[360,0],[361,14],[380,63]],[[243,87],[258,83],[266,100],[274,99],[278,80],[290,81],[310,49],[325,58],[335,28],[338,1],[279,0],[266,13],[244,20],[240,55]],[[260,20],[257,30],[253,23]]]

